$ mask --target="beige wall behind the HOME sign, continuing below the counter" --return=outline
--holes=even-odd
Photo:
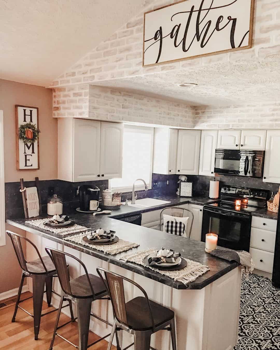
[[[16,169],[15,105],[39,108],[40,169]],[[52,118],[52,91],[44,87],[0,79],[0,110],[4,114],[5,182],[19,181],[20,177],[34,180],[57,179],[57,120]],[[6,228],[25,236],[26,232],[6,224]],[[19,268],[11,241],[0,246],[0,293],[19,287]]]

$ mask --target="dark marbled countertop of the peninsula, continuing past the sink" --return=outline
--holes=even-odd
[[[169,203],[168,205],[176,205],[180,203],[185,204],[189,202],[192,203],[192,201],[190,201],[189,198],[177,197],[177,201],[175,202],[174,197],[160,197],[160,199],[162,200],[165,200],[165,199],[167,200],[167,198],[170,198],[170,200],[173,198],[174,200],[174,201],[172,200],[172,203]],[[212,200],[209,200],[209,198],[208,199],[195,198],[194,204],[199,203],[202,205],[204,201],[212,201]],[[160,209],[160,207],[149,208],[149,210],[145,209],[145,210],[142,210],[142,212]],[[141,212],[137,208],[136,208],[137,211],[135,210],[129,211],[130,208],[131,207],[125,207],[120,209],[118,211],[117,217],[120,218],[132,212],[133,214],[136,214],[136,212]],[[131,208],[131,209],[135,209],[135,208]],[[8,219],[7,223],[10,225],[16,226],[22,230],[34,233],[36,235],[42,236],[44,238],[50,239],[58,243],[64,244],[78,251],[82,251],[86,254],[92,255],[101,260],[108,261],[111,264],[118,265],[120,267],[133,271],[140,275],[146,276],[147,278],[151,278],[152,280],[164,283],[165,285],[168,285],[176,289],[202,289],[238,266],[236,262],[230,263],[228,261],[212,257],[210,254],[206,253],[204,250],[205,243],[203,242],[198,242],[185,237],[170,235],[169,233],[159,232],[156,230],[145,228],[143,226],[133,225],[130,223],[113,219],[113,217],[116,217],[115,212],[113,212],[112,215],[93,216],[91,214],[78,213],[77,211],[74,210],[74,211],[66,212],[64,214],[69,215],[71,219],[76,221],[78,224],[84,225],[88,228],[91,228],[92,230],[97,229],[99,227],[102,227],[107,230],[113,230],[117,232],[118,237],[140,244],[139,247],[131,249],[129,251],[131,253],[137,252],[140,250],[145,250],[148,248],[166,247],[166,248],[170,248],[175,251],[181,252],[182,257],[184,258],[198,261],[203,265],[209,266],[210,271],[198,277],[194,282],[190,282],[188,286],[185,286],[183,283],[174,281],[173,279],[170,279],[167,276],[164,276],[155,271],[152,271],[149,268],[146,268],[131,262],[124,262],[123,260],[120,260],[120,258],[126,255],[128,252],[123,252],[116,255],[109,255],[109,254],[105,254],[103,252],[91,249],[90,247],[87,247],[87,246],[75,244],[70,241],[65,241],[62,239],[62,237],[57,236],[54,233],[51,233],[50,231],[41,230],[41,229],[35,228],[35,226],[26,224],[25,218]],[[47,215],[36,217],[36,219],[45,218],[45,217],[47,217]]]

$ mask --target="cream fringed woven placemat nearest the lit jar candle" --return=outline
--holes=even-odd
[[[156,271],[162,275],[165,275],[167,277],[174,279],[174,281],[182,282],[186,286],[188,285],[188,283],[195,281],[197,277],[203,275],[207,271],[210,271],[210,268],[208,266],[202,265],[200,264],[200,262],[185,259],[182,257],[181,257],[182,259],[185,259],[187,261],[188,265],[185,268],[178,271],[163,271],[144,264],[143,259],[147,255],[157,253],[157,252],[158,252],[158,249],[151,248],[151,249],[143,250],[141,252],[137,252],[131,255],[125,255],[124,257],[121,258],[121,260],[135,262],[135,264],[148,267],[153,271]]]

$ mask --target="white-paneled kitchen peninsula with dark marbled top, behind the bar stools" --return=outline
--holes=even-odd
[[[102,227],[116,231],[118,237],[138,243],[139,247],[129,252],[109,255],[31,226],[24,218],[9,219],[7,222],[27,231],[27,237],[36,244],[43,255],[45,255],[46,246],[58,248],[80,258],[87,266],[89,273],[97,274],[96,267],[101,266],[139,283],[152,300],[175,311],[178,350],[229,350],[237,343],[241,284],[240,266],[237,263],[230,263],[205,253],[205,243],[112,219],[114,213],[109,217],[101,215],[95,217],[76,211],[69,211],[66,214],[78,224],[91,230]],[[45,217],[46,215],[41,216],[41,218]],[[209,266],[210,271],[194,282],[184,285],[144,266],[120,260],[128,253],[154,247],[166,247],[179,251],[182,257]],[[27,251],[27,254],[28,259],[34,259],[32,252]],[[70,265],[71,277],[83,273],[75,265]],[[60,292],[56,285],[54,288]],[[138,296],[135,288],[125,286],[125,289],[129,299]],[[53,301],[57,302],[56,299]],[[95,314],[112,322],[110,303],[103,301],[94,304],[93,308]],[[93,328],[99,336],[108,333],[108,329],[102,322],[94,322]],[[126,332],[123,334],[122,342],[122,348],[131,343],[130,336]],[[156,349],[169,350],[169,332],[156,333],[152,337],[151,345]]]

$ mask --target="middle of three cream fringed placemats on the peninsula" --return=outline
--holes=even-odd
[[[121,252],[126,252],[127,250],[130,250],[132,248],[136,248],[139,246],[137,243],[131,243],[128,241],[125,241],[123,239],[119,239],[118,242],[112,243],[112,244],[89,244],[83,240],[83,237],[90,235],[92,232],[85,232],[85,233],[80,233],[79,235],[74,235],[70,237],[65,237],[63,238],[64,240],[69,240],[71,242],[75,242],[78,244],[85,245],[87,247],[90,247],[92,249],[97,249],[101,250],[102,252],[106,254],[118,254]]]

